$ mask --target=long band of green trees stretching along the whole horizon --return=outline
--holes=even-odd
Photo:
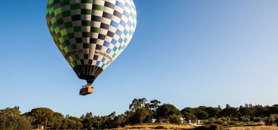
[[[262,106],[245,104],[245,106],[231,107],[226,105],[224,109],[218,107],[185,107],[182,110],[177,109],[172,104],[152,100],[148,103],[146,98],[133,99],[129,105],[129,110],[124,114],[116,115],[112,112],[106,116],[94,116],[88,112],[81,117],[63,115],[54,112],[49,108],[34,108],[30,112],[21,114],[19,107],[6,108],[0,110],[0,129],[30,130],[35,125],[43,125],[52,129],[111,129],[124,127],[125,125],[140,124],[147,122],[149,118],[165,119],[172,124],[180,124],[180,117],[189,120],[210,120],[215,118],[230,121],[254,121],[265,122],[266,125],[272,125],[278,122],[278,105]],[[215,121],[217,123],[217,120]],[[218,121],[221,122],[221,121]]]

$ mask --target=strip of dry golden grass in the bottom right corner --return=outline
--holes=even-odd
[[[275,125],[272,126],[252,126],[252,127],[231,127],[226,130],[278,130],[278,127]]]

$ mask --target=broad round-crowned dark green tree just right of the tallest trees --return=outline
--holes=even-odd
[[[181,115],[180,110],[172,104],[166,104],[157,108],[157,115],[159,118],[168,118],[170,115]]]

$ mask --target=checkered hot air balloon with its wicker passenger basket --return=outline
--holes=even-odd
[[[48,0],[50,34],[79,79],[80,95],[129,44],[136,28],[133,0]]]

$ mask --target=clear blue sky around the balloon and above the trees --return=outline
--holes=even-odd
[[[121,114],[143,97],[180,110],[278,104],[278,1],[134,0],[133,39],[88,96],[50,36],[46,3],[0,5],[0,109],[80,117]]]

